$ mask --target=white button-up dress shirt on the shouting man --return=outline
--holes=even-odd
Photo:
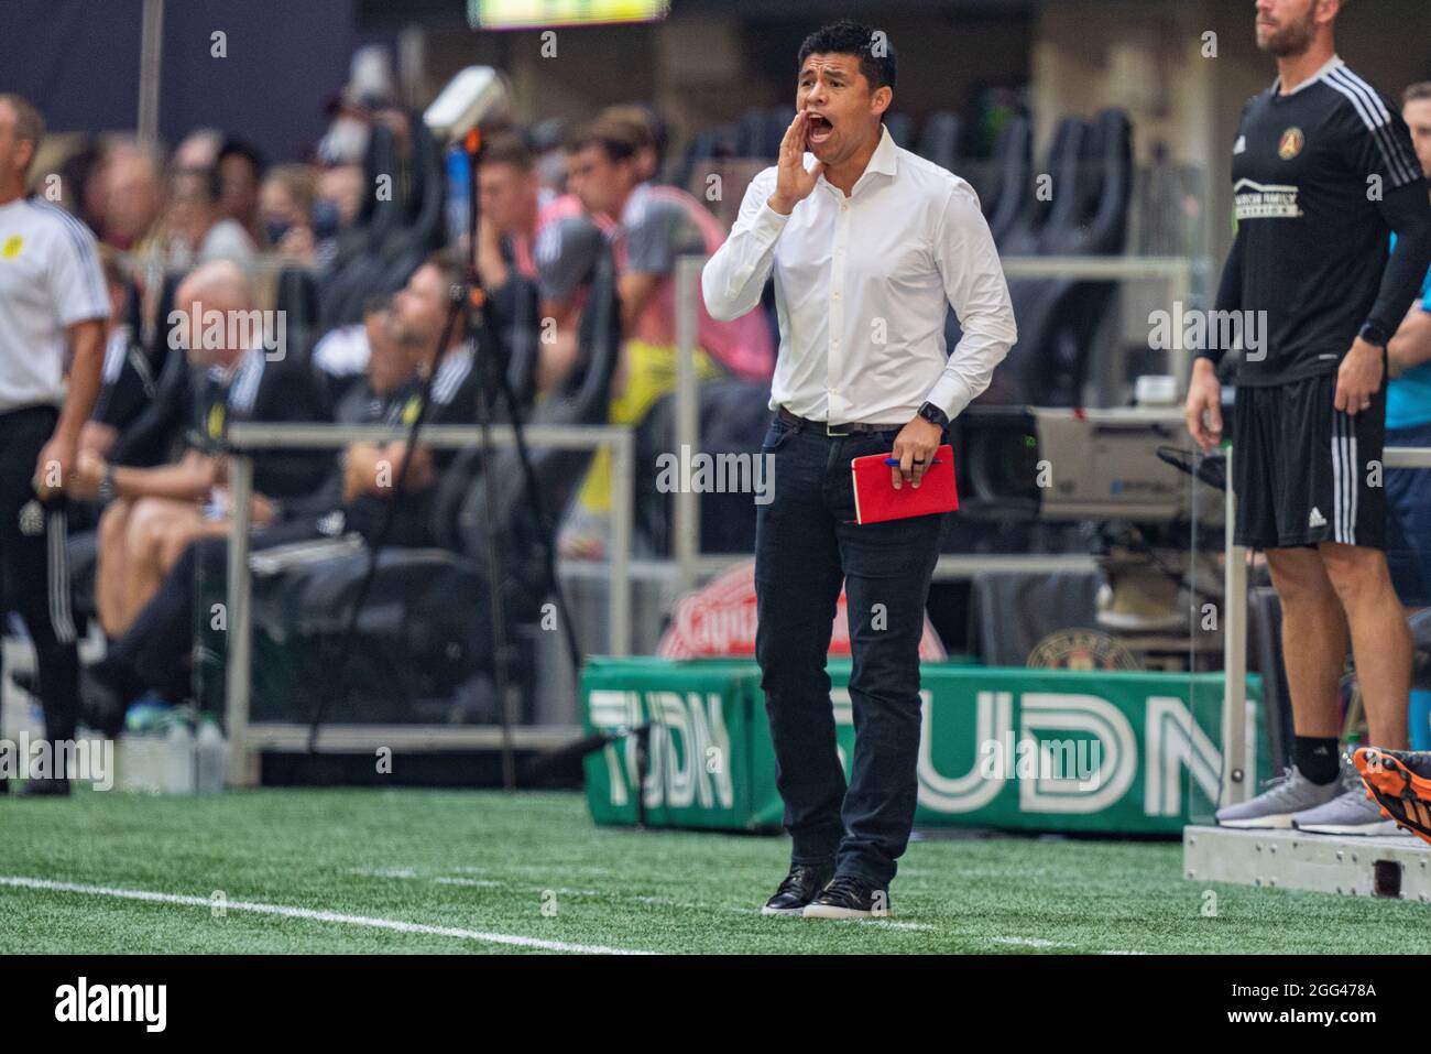
[[[816,165],[804,155],[806,170]],[[705,308],[733,319],[776,274],[780,355],[770,408],[833,424],[894,424],[927,400],[954,418],[1017,338],[1009,286],[973,188],[880,145],[849,198],[821,175],[788,216],[767,205],[777,168],[757,175],[730,238],[701,272]],[[944,349],[953,306],[963,339]]]

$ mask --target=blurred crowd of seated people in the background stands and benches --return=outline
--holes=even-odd
[[[296,162],[269,163],[240,139],[197,129],[167,155],[127,136],[83,143],[34,178],[40,190],[59,173],[60,203],[100,241],[112,305],[104,385],[70,487],[74,527],[89,527],[72,538],[73,566],[87,569],[76,573],[76,607],[109,642],[83,677],[96,727],[117,730],[146,696],[189,695],[195,569],[215,556],[222,566],[230,530],[229,422],[388,422],[395,434],[419,412],[428,424],[477,422],[474,339],[464,319],[445,325],[465,236],[441,231],[398,276],[372,271],[382,276],[348,318],[272,339],[282,276],[298,271],[325,291],[371,238],[359,226],[372,212],[365,198],[384,190],[369,185],[376,129],[396,150],[398,165],[379,173],[388,192],[409,193],[425,132],[416,113],[382,99],[345,99]],[[675,261],[714,252],[726,229],[660,182],[664,148],[663,122],[635,105],[487,135],[475,262],[504,358],[529,362],[507,378],[519,412],[581,369],[582,309],[602,259],[615,269],[622,332],[608,420],[638,422],[674,388]],[[776,347],[764,314],[716,322],[697,302],[698,375],[767,381]],[[233,325],[245,318],[262,327]],[[514,354],[521,342],[531,355]],[[379,531],[388,546],[438,546],[432,498],[458,453],[409,451],[401,438],[260,451],[252,546],[346,533],[372,544]],[[610,503],[597,455],[572,507],[558,510],[564,556],[605,554]]]

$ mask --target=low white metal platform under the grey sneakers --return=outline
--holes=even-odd
[[[1431,904],[1431,845],[1415,836],[1188,826],[1182,831],[1182,874],[1192,882]]]

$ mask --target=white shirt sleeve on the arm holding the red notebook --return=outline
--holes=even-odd
[[[979,198],[967,185],[952,188],[944,202],[934,264],[963,338],[927,398],[953,420],[989,387],[995,367],[1019,338],[999,251]]]

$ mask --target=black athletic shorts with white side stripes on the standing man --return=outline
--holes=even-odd
[[[1342,541],[1384,550],[1385,434],[1385,381],[1359,414],[1337,410],[1335,372],[1239,385],[1232,424],[1236,544],[1289,548]]]

